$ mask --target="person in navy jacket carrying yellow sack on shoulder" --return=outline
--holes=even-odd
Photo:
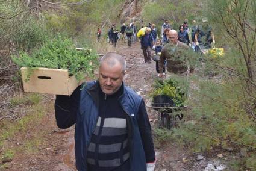
[[[142,46],[145,63],[151,63],[151,47],[153,42],[151,29],[146,28],[145,35],[140,37],[140,45]]]

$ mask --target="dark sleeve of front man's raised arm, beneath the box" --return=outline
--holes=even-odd
[[[78,86],[71,96],[56,95],[55,118],[58,128],[66,129],[76,122],[79,106],[80,88]]]

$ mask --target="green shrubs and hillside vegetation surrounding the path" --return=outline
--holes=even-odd
[[[192,20],[200,24],[203,17],[213,26],[216,46],[225,48],[225,57],[205,60],[207,70],[192,78],[198,89],[192,92],[190,115],[184,119],[187,122],[172,131],[166,130],[164,134],[170,136],[164,138],[198,152],[212,149],[231,154],[240,152],[240,158],[231,161],[230,167],[254,170],[256,2],[253,0],[0,0],[0,160],[15,154],[4,143],[14,135],[15,125],[36,119],[20,114],[20,106],[37,105],[42,99],[37,94],[23,95],[19,67],[11,55],[31,54],[59,35],[58,39],[70,39],[78,48],[89,47],[104,54],[112,23],[120,28],[122,23],[134,21],[139,29],[143,20],[145,25],[155,23],[160,35],[165,19],[178,30],[184,19],[192,26]],[[100,43],[96,41],[97,28],[102,29]],[[222,75],[222,81],[205,79],[209,70]]]

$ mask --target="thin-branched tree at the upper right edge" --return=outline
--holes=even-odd
[[[246,64],[247,77],[255,79],[256,61],[256,1],[216,0],[209,1],[211,19],[233,40]]]

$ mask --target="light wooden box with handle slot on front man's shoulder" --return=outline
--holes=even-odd
[[[29,79],[27,67],[21,68],[24,92],[71,95],[78,87],[75,76],[69,77],[67,69],[34,68]]]

